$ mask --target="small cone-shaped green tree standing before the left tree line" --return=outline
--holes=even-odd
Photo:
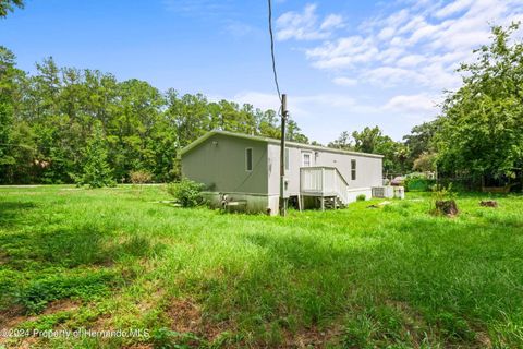
[[[89,188],[114,185],[112,170],[107,161],[107,146],[100,122],[96,122],[93,136],[84,149],[83,173],[77,179],[77,184]]]

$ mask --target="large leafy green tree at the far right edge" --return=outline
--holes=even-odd
[[[492,27],[492,43],[461,65],[463,86],[448,95],[436,133],[439,169],[513,178],[523,168],[523,44],[511,38],[518,28]]]

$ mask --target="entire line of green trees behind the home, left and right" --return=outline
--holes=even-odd
[[[0,17],[15,7],[23,1],[0,2]],[[342,132],[327,146],[382,154],[385,173],[437,170],[482,182],[523,181],[519,27],[494,26],[491,43],[457,72],[463,84],[446,93],[441,113],[401,142],[374,127]],[[98,70],[61,68],[52,58],[28,74],[0,46],[0,183],[84,183],[98,172],[125,182],[133,171],[171,181],[180,178],[179,151],[207,131],[280,137],[279,122],[273,110],[173,88],[162,93],[135,79],[120,82]],[[309,143],[293,120],[288,139]]]

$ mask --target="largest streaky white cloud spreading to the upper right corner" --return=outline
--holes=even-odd
[[[306,48],[313,67],[385,87],[457,88],[455,69],[490,40],[490,25],[523,17],[521,0],[402,0],[358,33]],[[316,8],[315,8],[316,10]],[[335,79],[336,80],[336,79]]]

